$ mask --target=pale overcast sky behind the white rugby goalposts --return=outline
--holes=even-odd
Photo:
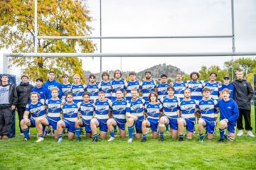
[[[237,52],[256,51],[256,1],[235,2]],[[100,35],[100,0],[87,0],[92,35]],[[102,0],[102,36],[231,35],[230,0]],[[97,45],[100,40],[93,40]],[[100,49],[100,46],[97,46]],[[6,50],[5,50],[6,51]],[[231,52],[231,38],[102,40],[102,52]],[[2,56],[0,51],[0,55]],[[98,51],[97,51],[98,52]],[[255,56],[254,56],[255,57]],[[172,64],[189,73],[202,65],[223,67],[231,57],[122,57],[122,70],[139,72]],[[82,59],[83,68],[100,72],[100,58]],[[102,70],[120,69],[119,57],[102,58]],[[1,72],[1,69],[0,69]],[[15,71],[11,72],[16,74]]]

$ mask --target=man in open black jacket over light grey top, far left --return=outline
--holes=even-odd
[[[3,74],[0,85],[0,140],[9,138],[11,129],[11,111],[14,111],[17,105],[17,91],[14,84],[9,84],[9,77]]]

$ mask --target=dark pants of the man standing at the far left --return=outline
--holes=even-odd
[[[11,129],[11,107],[0,108],[0,136],[9,136]]]

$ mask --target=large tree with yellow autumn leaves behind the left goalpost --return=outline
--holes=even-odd
[[[11,48],[12,52],[34,50],[34,6],[32,0],[0,1],[0,48]],[[83,1],[38,0],[38,35],[82,36],[90,35],[92,20]],[[90,40],[38,40],[38,52],[94,52],[95,44]],[[22,72],[43,77],[49,70],[58,75],[80,74],[85,76],[78,57],[11,57],[10,66],[21,67]],[[60,79],[60,77],[57,77]]]

